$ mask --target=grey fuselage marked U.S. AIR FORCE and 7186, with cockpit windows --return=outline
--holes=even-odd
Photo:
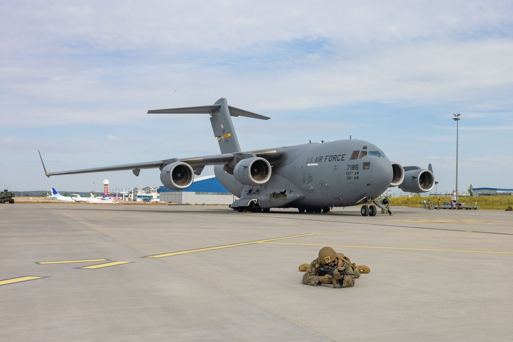
[[[341,207],[377,197],[390,186],[390,160],[363,140],[280,147],[266,184],[247,186],[215,166],[221,184],[241,199],[255,199],[262,208]],[[280,205],[280,203],[282,205]]]

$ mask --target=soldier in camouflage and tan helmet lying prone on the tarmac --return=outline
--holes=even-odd
[[[303,275],[303,284],[319,286],[332,284],[333,288],[354,286],[354,279],[360,277],[360,273],[369,273],[367,266],[356,266],[342,253],[337,253],[331,247],[323,247],[319,251],[319,257],[310,265],[303,264],[300,270],[307,266]]]

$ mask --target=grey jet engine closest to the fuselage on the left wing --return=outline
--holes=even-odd
[[[233,168],[233,176],[244,185],[262,185],[271,178],[271,164],[261,157],[242,159]]]

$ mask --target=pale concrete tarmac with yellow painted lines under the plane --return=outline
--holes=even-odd
[[[0,205],[0,340],[506,341],[512,212]],[[370,267],[306,286],[332,246]]]

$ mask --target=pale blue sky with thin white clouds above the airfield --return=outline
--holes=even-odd
[[[0,0],[1,189],[160,186],[47,178],[37,151],[50,172],[216,154],[207,114],[147,111],[221,97],[271,117],[233,118],[243,150],[367,140],[445,193],[458,135],[460,193],[513,188],[513,3]]]

